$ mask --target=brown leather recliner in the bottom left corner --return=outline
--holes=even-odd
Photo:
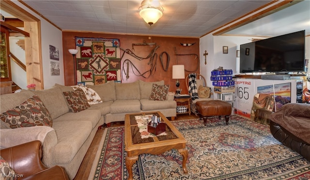
[[[69,180],[61,166],[46,167],[41,162],[42,147],[40,141],[0,150],[1,157],[9,163],[16,174],[22,175],[18,180]]]

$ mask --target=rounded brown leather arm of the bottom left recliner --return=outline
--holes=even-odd
[[[0,150],[0,154],[17,174],[23,174],[24,177],[47,169],[41,162],[42,149],[40,141],[31,141],[6,148]]]

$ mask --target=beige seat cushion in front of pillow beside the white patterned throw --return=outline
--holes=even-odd
[[[60,121],[71,121],[71,123],[76,123],[77,121],[90,121],[92,122],[92,128],[98,123],[101,118],[100,111],[98,110],[89,110],[86,109],[84,111],[80,111],[77,113],[69,112],[66,113],[57,119],[53,120],[53,122]]]

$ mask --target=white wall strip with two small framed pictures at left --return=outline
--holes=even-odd
[[[64,85],[63,73],[63,55],[62,55],[62,31],[51,25],[41,16],[35,14],[20,2],[14,0],[14,3],[22,9],[29,12],[41,20],[41,44],[42,44],[42,67],[44,78],[44,89],[51,88],[55,83]],[[59,60],[49,59],[49,45],[53,45],[59,49]],[[50,75],[50,61],[60,63],[60,75]]]

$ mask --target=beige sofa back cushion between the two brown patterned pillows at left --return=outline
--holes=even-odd
[[[70,111],[62,91],[57,87],[47,90],[34,90],[33,93],[40,97],[52,119]]]

